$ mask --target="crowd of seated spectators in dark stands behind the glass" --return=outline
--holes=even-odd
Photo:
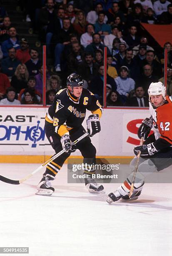
[[[167,49],[167,94],[172,95],[172,44],[151,45],[141,23],[172,24],[167,0],[18,0],[53,67],[46,70],[46,103],[77,73],[84,88],[103,104],[104,48],[107,47],[107,106],[149,105],[151,82],[164,82]],[[28,35],[29,36],[29,35]],[[42,104],[40,52],[17,33],[0,4],[0,105]]]

